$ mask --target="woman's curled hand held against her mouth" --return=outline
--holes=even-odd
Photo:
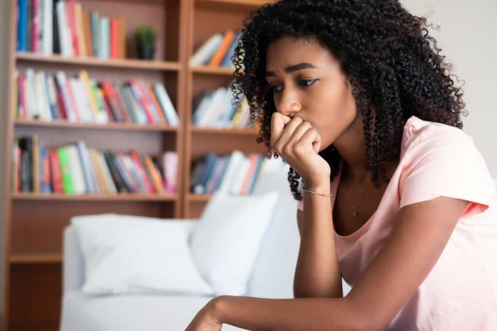
[[[330,165],[318,152],[321,136],[311,123],[275,112],[271,117],[271,148],[302,177],[306,185],[323,182],[331,175]]]

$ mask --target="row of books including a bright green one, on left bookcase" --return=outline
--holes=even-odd
[[[99,151],[82,140],[42,146],[36,133],[14,140],[12,192],[59,194],[173,194],[177,192],[177,154],[166,151],[162,166],[136,150]]]

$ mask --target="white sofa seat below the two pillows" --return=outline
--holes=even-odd
[[[212,298],[172,294],[89,296],[73,290],[64,294],[59,331],[185,330]],[[223,331],[241,330],[223,324]]]

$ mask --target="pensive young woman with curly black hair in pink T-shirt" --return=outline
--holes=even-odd
[[[497,330],[496,189],[426,27],[398,0],[252,13],[233,90],[291,166],[295,298],[216,297],[187,331]]]

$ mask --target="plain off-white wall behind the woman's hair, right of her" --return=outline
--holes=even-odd
[[[497,1],[401,0],[414,15],[425,16],[440,30],[428,28],[437,47],[461,82],[469,116],[463,131],[473,137],[492,177],[497,178]],[[455,77],[453,77],[455,79]]]

